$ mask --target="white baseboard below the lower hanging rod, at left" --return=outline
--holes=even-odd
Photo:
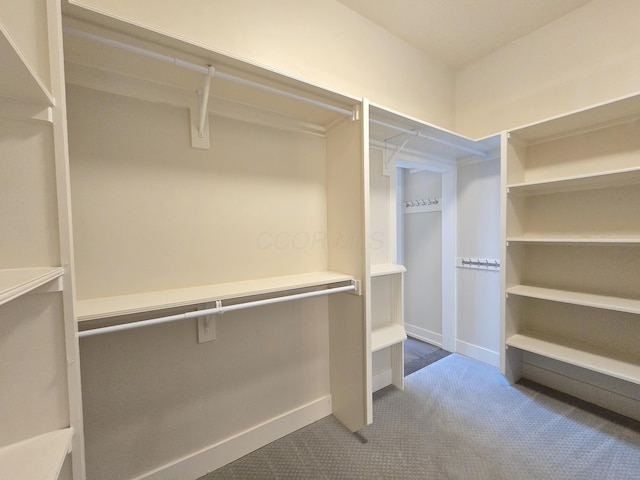
[[[133,480],[193,480],[331,415],[331,396],[278,415]]]

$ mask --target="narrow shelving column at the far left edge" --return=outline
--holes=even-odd
[[[77,480],[85,477],[60,2],[11,3],[0,11],[0,478]]]

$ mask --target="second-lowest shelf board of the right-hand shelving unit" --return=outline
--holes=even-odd
[[[570,303],[584,307],[640,314],[640,300],[632,298],[609,297],[605,295],[594,295],[591,293],[532,287],[529,285],[515,285],[507,288],[506,292],[509,295],[519,295],[522,297]]]

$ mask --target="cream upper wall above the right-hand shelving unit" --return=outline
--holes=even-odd
[[[593,0],[456,74],[455,130],[479,138],[640,90],[640,2]]]

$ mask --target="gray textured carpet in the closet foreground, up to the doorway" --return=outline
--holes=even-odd
[[[638,422],[457,354],[405,385],[356,434],[329,416],[201,480],[640,478]]]

